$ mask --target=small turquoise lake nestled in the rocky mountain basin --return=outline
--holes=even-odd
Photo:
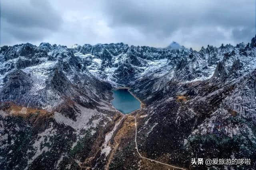
[[[140,101],[138,101],[128,89],[112,90],[114,100],[112,105],[124,114],[131,113],[132,111],[140,108]]]

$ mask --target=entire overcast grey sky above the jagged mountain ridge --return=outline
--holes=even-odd
[[[96,2],[95,2],[96,1]],[[248,43],[254,0],[1,0],[0,45]]]

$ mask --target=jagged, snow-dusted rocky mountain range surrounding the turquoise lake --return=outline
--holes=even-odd
[[[256,168],[255,39],[200,51],[175,42],[1,47],[0,167],[159,168],[135,153],[136,115],[148,158],[187,169],[206,168],[190,166],[194,157],[250,158]],[[126,116],[110,103],[124,86],[143,103]]]

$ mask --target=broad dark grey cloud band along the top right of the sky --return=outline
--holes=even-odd
[[[250,2],[250,1],[248,1]],[[180,0],[146,1],[112,0],[107,2],[106,12],[110,15],[111,25],[134,25],[172,30],[184,26],[222,25],[226,27],[238,25],[254,25],[254,4],[244,1],[226,0],[202,1]]]

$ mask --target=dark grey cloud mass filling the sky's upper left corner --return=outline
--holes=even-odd
[[[1,1],[1,44],[34,42],[58,31],[62,18],[44,1]]]

